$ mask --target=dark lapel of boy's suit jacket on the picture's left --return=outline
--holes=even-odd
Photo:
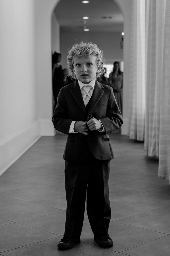
[[[72,94],[73,98],[75,99],[77,104],[80,106],[80,108],[83,110],[83,112],[86,113],[82,93],[81,93],[80,86],[79,86],[79,83],[77,82],[77,80],[74,83],[72,83],[71,88],[72,88],[72,90],[70,91],[70,93]]]

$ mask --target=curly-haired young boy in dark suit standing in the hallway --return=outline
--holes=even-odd
[[[105,72],[97,45],[75,44],[67,62],[69,76],[77,80],[60,90],[52,118],[54,128],[68,135],[63,156],[66,225],[58,248],[71,249],[80,242],[86,195],[94,240],[101,247],[111,247],[108,179],[114,155],[108,133],[121,127],[122,116],[112,88],[96,80]]]

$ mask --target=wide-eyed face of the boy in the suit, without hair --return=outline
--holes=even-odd
[[[96,56],[90,55],[89,58],[73,57],[74,71],[76,78],[84,84],[88,84],[96,77],[98,71]]]

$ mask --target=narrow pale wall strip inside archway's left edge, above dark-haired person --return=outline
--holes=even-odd
[[[51,51],[60,52],[60,26],[54,12],[51,16]]]

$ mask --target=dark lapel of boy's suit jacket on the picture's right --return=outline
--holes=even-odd
[[[104,92],[103,92],[102,88],[103,88],[102,84],[99,83],[96,80],[94,91],[93,91],[93,94],[91,96],[91,101],[90,101],[87,117],[93,111],[93,109],[95,108],[96,104],[99,102],[101,96],[103,95]]]

